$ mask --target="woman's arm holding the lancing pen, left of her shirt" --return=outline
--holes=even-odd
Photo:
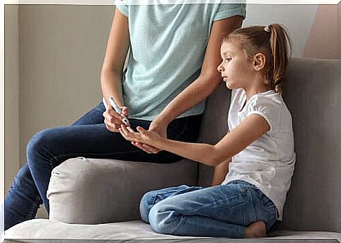
[[[122,70],[128,48],[128,18],[116,8],[101,70],[101,87],[103,97],[107,104],[110,104],[109,97],[112,96],[118,106],[124,106],[122,95]],[[127,115],[127,108],[124,108],[123,111]],[[103,116],[105,117],[107,129],[117,132],[120,124],[122,124],[122,117],[120,117],[110,105],[108,105]]]

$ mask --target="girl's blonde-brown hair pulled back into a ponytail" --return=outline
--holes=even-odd
[[[251,26],[236,29],[222,40],[238,41],[252,60],[255,54],[266,57],[264,78],[266,86],[276,92],[282,91],[283,75],[290,62],[291,41],[288,32],[276,23],[268,26]]]

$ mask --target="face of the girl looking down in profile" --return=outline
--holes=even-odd
[[[224,42],[220,48],[222,62],[217,67],[227,88],[245,88],[255,78],[255,70],[239,43]]]

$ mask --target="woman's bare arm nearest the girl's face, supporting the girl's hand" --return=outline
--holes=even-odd
[[[213,22],[210,39],[205,51],[202,68],[198,79],[188,86],[184,91],[179,93],[162,112],[150,124],[149,131],[157,131],[162,137],[166,137],[166,130],[168,124],[184,113],[186,110],[197,105],[202,100],[210,96],[211,93],[219,85],[221,78],[217,71],[217,67],[221,62],[220,56],[220,42],[226,37],[226,34],[232,32],[241,26],[243,17],[236,15],[224,20],[217,20]],[[139,143],[134,143],[146,152],[158,152],[150,146],[143,146]]]

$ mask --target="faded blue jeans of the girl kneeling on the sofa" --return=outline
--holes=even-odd
[[[255,221],[264,221],[269,230],[277,209],[255,185],[233,180],[210,188],[180,185],[147,192],[140,214],[163,234],[241,238]]]

